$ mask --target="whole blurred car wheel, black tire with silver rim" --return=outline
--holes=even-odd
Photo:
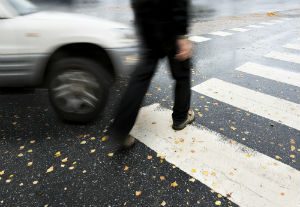
[[[96,61],[64,58],[50,68],[50,102],[58,116],[65,121],[92,121],[105,107],[110,80],[106,70]]]

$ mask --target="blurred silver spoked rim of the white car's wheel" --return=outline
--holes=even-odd
[[[57,75],[52,83],[52,98],[60,110],[76,114],[96,110],[101,87],[93,74],[70,70]]]

